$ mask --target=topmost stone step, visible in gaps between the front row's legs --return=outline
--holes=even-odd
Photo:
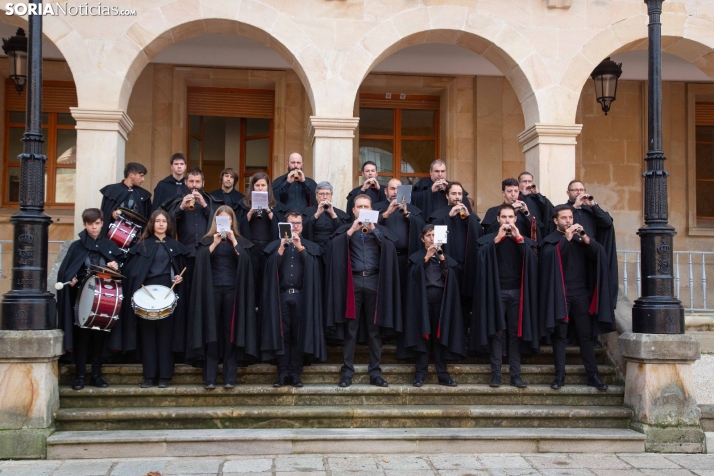
[[[302,374],[302,381],[305,384],[337,384],[339,381],[341,364],[314,364],[305,367]],[[408,364],[384,364],[382,376],[390,384],[411,384],[414,380],[414,366]],[[355,365],[356,374],[354,383],[369,383],[367,375],[367,365]],[[600,377],[607,384],[617,382],[615,368],[611,365],[601,365],[599,367]],[[89,369],[87,370],[89,373]],[[427,384],[437,383],[436,373],[433,365],[430,366]],[[459,384],[488,384],[491,381],[491,368],[485,364],[454,364],[449,366],[449,372],[454,380]],[[508,366],[502,367],[503,382],[508,384]],[[585,368],[581,365],[566,366],[566,383],[581,384],[587,383]],[[142,368],[140,364],[125,365],[105,365],[102,368],[102,376],[109,385],[138,385],[143,380]],[[553,380],[552,365],[523,365],[521,376],[529,385],[550,384]],[[264,384],[272,385],[276,380],[276,369],[272,365],[259,364],[238,369],[238,385],[243,384]],[[63,366],[60,371],[60,384],[71,385],[74,379],[74,366]],[[218,378],[219,383],[222,378]],[[203,383],[202,371],[200,368],[190,365],[177,365],[172,384],[195,384]]]

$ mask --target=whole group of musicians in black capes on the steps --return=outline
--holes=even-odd
[[[490,385],[501,385],[504,356],[510,385],[523,388],[521,356],[553,346],[555,379],[565,384],[565,351],[576,343],[588,385],[606,390],[595,359],[597,337],[615,330],[617,262],[613,220],[579,180],[568,201],[552,203],[523,172],[502,183],[503,203],[483,221],[462,185],[446,180],[446,163],[431,164],[413,185],[411,203],[397,200],[402,182],[382,183],[377,165],[362,165],[363,184],[346,210],[335,207],[328,182],[302,170],[300,154],[272,183],[265,173],[248,190],[267,192],[268,206],[235,190],[239,176],[221,172],[221,188],[203,189],[200,169],[171,157],[172,174],[151,194],[141,188],[146,168],[129,163],[124,180],[101,189],[101,209],[85,210],[85,230],[69,248],[58,281],[59,327],[76,363],[74,389],[107,387],[102,359],[135,354],[143,364],[142,388],[168,387],[175,358],[203,367],[206,389],[224,387],[237,369],[269,362],[275,387],[303,386],[304,365],[326,360],[327,346],[342,347],[339,386],[355,373],[357,344],[369,348],[369,382],[386,387],[383,343],[415,364],[413,385],[427,377],[430,355],[438,383],[456,386],[447,363],[470,354],[490,355]],[[117,209],[146,219],[128,251],[106,238]],[[377,223],[359,221],[376,210]],[[217,217],[228,229],[217,228]],[[279,223],[291,233],[279,235]],[[448,239],[436,241],[446,225]],[[124,299],[111,332],[76,325],[79,284],[92,265],[121,273]],[[134,312],[131,297],[145,286],[173,286],[175,310],[163,319]]]

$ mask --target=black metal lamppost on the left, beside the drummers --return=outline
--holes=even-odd
[[[39,4],[41,0],[31,0]],[[19,159],[20,211],[13,224],[11,290],[0,304],[0,329],[54,329],[56,306],[47,291],[47,240],[50,217],[45,215],[45,162],[42,154],[42,16],[29,15],[27,111],[25,143]]]

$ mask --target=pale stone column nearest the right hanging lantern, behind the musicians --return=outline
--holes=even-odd
[[[565,203],[568,182],[575,170],[576,137],[582,124],[535,124],[518,134],[526,154],[526,170],[533,174],[538,191],[553,205]]]

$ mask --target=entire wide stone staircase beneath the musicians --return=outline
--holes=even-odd
[[[366,362],[366,348],[359,347],[357,354],[356,362]],[[553,378],[549,347],[524,358],[522,377],[529,384],[526,389],[508,385],[507,366],[503,371],[505,385],[490,388],[485,358],[470,358],[450,366],[452,377],[459,383],[456,388],[437,385],[434,373],[423,387],[415,388],[411,385],[413,365],[397,363],[394,354],[394,346],[385,346],[382,374],[390,384],[387,388],[368,384],[365,364],[355,366],[351,387],[339,388],[338,348],[330,349],[328,362],[305,368],[303,388],[273,388],[275,367],[255,365],[239,369],[235,388],[208,391],[202,386],[200,369],[178,365],[171,387],[140,389],[141,366],[127,364],[104,367],[109,388],[75,391],[69,387],[74,368],[63,366],[60,409],[56,413],[60,431],[48,440],[48,455],[97,457],[94,451],[101,451],[108,440],[139,450],[141,435],[164,441],[163,450],[152,453],[156,456],[157,452],[166,454],[167,438],[178,438],[179,447],[208,441],[204,451],[209,452],[211,442],[218,439],[225,444],[228,438],[233,448],[228,454],[239,454],[240,448],[255,443],[259,434],[271,441],[283,435],[283,440],[304,443],[324,440],[325,435],[338,431],[342,432],[333,434],[334,438],[343,441],[359,437],[360,447],[365,441],[381,441],[385,435],[391,435],[392,442],[411,438],[422,441],[421,446],[415,446],[421,448],[419,451],[423,451],[424,438],[432,443],[439,438],[480,441],[481,446],[486,442],[492,445],[499,438],[522,440],[523,444],[549,441],[551,446],[546,448],[553,448],[555,438],[566,447],[577,440],[582,444],[591,441],[599,451],[644,449],[641,435],[628,429],[632,413],[622,406],[624,388],[617,382],[604,349],[598,349],[597,356],[601,377],[610,385],[606,392],[586,385],[577,348],[568,348],[566,386],[560,390],[549,387]],[[248,429],[252,431],[246,433]],[[192,435],[186,441],[181,437],[187,434],[185,430],[191,430],[188,433]],[[473,451],[477,447],[475,443],[469,446]],[[344,452],[344,446],[341,448]],[[593,446],[583,448],[592,451]],[[145,452],[146,448],[140,450]]]

